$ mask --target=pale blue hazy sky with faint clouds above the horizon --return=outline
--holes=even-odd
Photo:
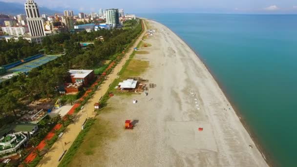
[[[0,0],[24,3],[26,0]],[[295,13],[297,0],[35,0],[48,8],[98,12],[123,8],[125,13]]]

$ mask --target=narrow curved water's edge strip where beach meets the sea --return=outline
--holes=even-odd
[[[226,97],[226,99],[228,100],[228,102],[231,104],[233,110],[235,111],[236,116],[238,117],[238,119],[240,120],[242,126],[244,127],[244,129],[247,131],[247,133],[249,134],[250,138],[253,140],[253,142],[255,143],[256,148],[258,149],[258,151],[261,153],[261,156],[263,157],[263,159],[266,161],[267,165],[269,167],[274,167],[276,166],[276,162],[274,162],[271,158],[271,155],[269,155],[269,153],[265,150],[265,148],[263,146],[260,145],[259,140],[257,139],[255,133],[253,132],[252,128],[248,125],[248,123],[245,121],[244,117],[242,117],[238,107],[236,107],[236,105],[233,103],[233,101],[231,100],[228,92],[223,88],[222,84],[220,83],[220,81],[217,79],[216,75],[213,73],[213,71],[211,70],[211,68],[209,68],[206,63],[204,62],[204,60],[202,59],[202,57],[199,56],[199,54],[197,53],[197,51],[195,51],[195,49],[193,49],[191,47],[191,45],[186,42],[181,36],[179,36],[176,32],[174,32],[170,27],[166,26],[165,24],[156,21],[154,19],[146,19],[143,18],[144,20],[150,20],[150,21],[155,21],[165,27],[167,27],[173,34],[175,34],[181,41],[183,41],[190,49],[191,51],[196,55],[196,57],[198,58],[198,60],[205,66],[205,68],[208,70],[208,72],[211,74],[212,78],[214,79],[215,83],[218,85],[218,87],[220,88],[220,90],[223,92],[224,96]]]

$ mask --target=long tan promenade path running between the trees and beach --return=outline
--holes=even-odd
[[[143,22],[144,23],[144,22]],[[70,148],[78,134],[80,133],[82,129],[82,125],[85,122],[85,119],[87,117],[94,117],[96,114],[94,111],[94,104],[99,102],[99,99],[107,92],[109,88],[109,84],[111,84],[117,77],[117,73],[122,69],[122,66],[126,63],[129,56],[132,54],[134,47],[137,46],[137,44],[142,39],[143,35],[146,33],[146,25],[145,30],[143,31],[143,34],[139,36],[137,41],[134,43],[134,45],[129,49],[129,51],[126,53],[126,55],[123,57],[122,61],[116,65],[116,67],[113,69],[113,71],[106,77],[106,80],[103,84],[100,85],[100,88],[94,93],[94,96],[85,104],[85,107],[83,111],[79,112],[74,120],[73,124],[70,124],[67,126],[67,128],[64,131],[63,136],[56,141],[56,143],[51,147],[48,153],[46,153],[40,163],[38,164],[38,167],[57,167],[59,165],[59,157],[63,153],[63,149],[67,150]],[[64,143],[67,143],[64,145]]]

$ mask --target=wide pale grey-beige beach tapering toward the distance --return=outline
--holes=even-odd
[[[110,111],[98,117],[116,138],[104,141],[93,155],[76,156],[71,166],[268,166],[197,55],[166,26],[148,25],[156,30],[145,40],[152,46],[134,59],[149,62],[140,77],[156,87],[148,96],[112,97]],[[133,130],[123,128],[126,119],[136,120]]]

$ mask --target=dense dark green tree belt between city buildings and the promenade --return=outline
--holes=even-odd
[[[121,53],[141,31],[141,25],[134,29],[100,30],[98,32],[78,34],[58,34],[46,37],[42,46],[46,53],[59,50],[63,46],[65,55],[35,68],[28,75],[21,74],[0,84],[0,114],[8,117],[9,113],[22,110],[26,106],[24,100],[36,100],[39,98],[54,98],[59,95],[58,87],[63,86],[68,74],[68,69],[93,69],[100,67],[104,60]],[[106,35],[106,36],[105,36]],[[94,40],[86,49],[82,49],[78,43],[85,36],[96,39],[99,36],[105,38],[105,42]],[[3,106],[3,107],[2,107]],[[12,112],[13,111],[13,112]],[[16,114],[13,114],[13,118]],[[12,120],[9,120],[12,121]],[[5,121],[6,122],[6,121]]]

